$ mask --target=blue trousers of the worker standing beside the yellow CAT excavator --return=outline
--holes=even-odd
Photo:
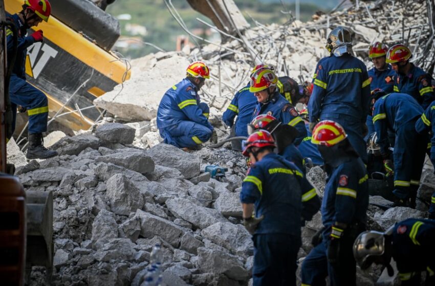
[[[15,75],[11,76],[9,85],[13,122],[15,129],[16,108],[23,106],[29,114],[29,133],[42,133],[47,131],[48,100],[47,96],[25,80]]]

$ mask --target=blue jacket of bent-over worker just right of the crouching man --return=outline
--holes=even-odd
[[[232,127],[235,120],[235,135],[236,136],[248,136],[247,125],[251,123],[252,111],[257,104],[257,99],[254,93],[249,91],[249,83],[247,86],[237,91],[234,94],[230,105],[222,115],[222,120],[226,125]]]

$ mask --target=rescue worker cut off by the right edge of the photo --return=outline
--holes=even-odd
[[[416,131],[422,135],[431,131],[430,139],[430,154],[429,158],[432,165],[435,166],[435,101],[426,108],[424,113],[416,122]],[[430,207],[429,207],[429,218],[435,219],[435,190],[431,197]]]

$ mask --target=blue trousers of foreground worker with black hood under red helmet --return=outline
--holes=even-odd
[[[323,237],[302,262],[302,286],[325,286],[329,276],[331,286],[356,285],[356,262],[352,248],[356,237],[342,237],[336,265],[328,263],[327,253],[330,240]],[[343,251],[344,250],[344,251]]]

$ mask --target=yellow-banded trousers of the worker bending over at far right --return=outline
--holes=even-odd
[[[396,130],[394,145],[394,191],[400,199],[417,195],[426,154],[427,137],[417,133],[414,122]]]

